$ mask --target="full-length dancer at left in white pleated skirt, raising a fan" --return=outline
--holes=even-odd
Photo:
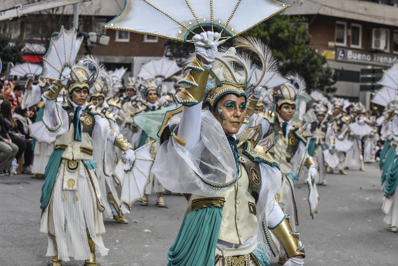
[[[62,35],[63,47],[68,47],[68,44],[76,43],[75,33],[74,28],[65,31],[62,27],[60,34],[52,38],[52,43],[57,47],[59,36]],[[70,34],[73,34],[73,41],[70,40]],[[48,235],[47,256],[51,256],[51,266],[60,266],[62,261],[68,261],[70,257],[85,260],[85,266],[97,266],[95,252],[100,256],[108,252],[101,238],[101,234],[105,233],[101,214],[104,207],[101,205],[101,192],[95,173],[96,165],[103,160],[102,156],[97,156],[103,154],[101,143],[110,141],[121,148],[130,166],[135,160],[135,153],[124,136],[116,134],[108,120],[86,102],[98,69],[90,70],[83,61],[74,64],[76,55],[71,55],[71,62],[65,65],[57,57],[51,56],[54,55],[52,49],[53,46],[50,46],[43,62],[63,67],[62,71],[54,67],[61,72],[60,81],[54,81],[49,91],[43,94],[43,121],[56,141],[49,167],[45,171],[40,231]],[[62,55],[62,52],[65,51],[59,45],[57,54]],[[61,61],[60,65],[57,65],[57,60]],[[45,69],[42,75],[51,76],[48,65],[45,65]],[[55,100],[62,87],[68,89],[70,98],[61,105]]]

